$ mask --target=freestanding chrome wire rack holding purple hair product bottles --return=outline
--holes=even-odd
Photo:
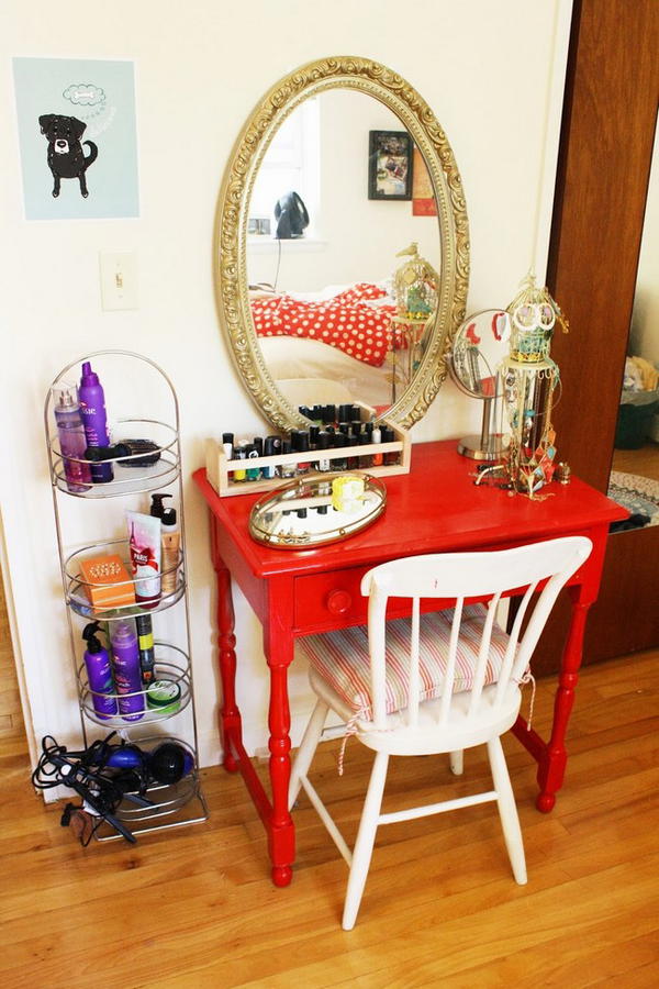
[[[115,444],[122,442],[122,437],[139,436],[149,442],[149,455],[144,453],[129,454],[122,452],[121,456],[90,464],[87,459],[65,457],[60,446],[60,432],[55,419],[53,389],[69,386],[79,376],[80,367],[85,362],[93,360],[94,368],[103,382],[110,413],[116,409],[120,401],[123,404],[124,392],[135,395],[135,387],[139,388],[142,402],[149,401],[152,395],[158,397],[164,410],[164,419],[110,419],[110,425]],[[112,382],[116,388],[112,388]],[[146,387],[145,387],[146,386]],[[130,398],[126,399],[130,401]],[[111,732],[127,743],[138,745],[143,752],[149,753],[163,742],[176,742],[186,752],[186,762],[192,765],[178,781],[174,784],[154,782],[146,790],[147,807],[141,807],[130,800],[124,800],[115,811],[115,816],[134,834],[145,834],[150,831],[165,827],[177,827],[183,824],[193,824],[208,819],[208,808],[201,791],[199,780],[199,747],[197,737],[197,723],[194,715],[194,697],[192,689],[192,667],[190,662],[190,613],[188,601],[187,568],[185,552],[185,511],[183,488],[180,464],[179,441],[179,409],[174,387],[167,375],[152,360],[138,354],[127,351],[98,351],[63,368],[57,375],[46,397],[45,433],[51,469],[51,482],[53,489],[53,504],[55,524],[57,530],[57,546],[59,566],[62,570],[62,584],[67,605],[68,630],[70,651],[74,659],[78,704],[80,710],[80,723],[85,745],[90,744],[90,734],[94,738],[105,737]],[[65,463],[68,460],[68,464]],[[149,463],[146,464],[145,462]],[[134,466],[137,462],[141,466]],[[105,465],[107,471],[112,476],[110,481],[90,480],[90,470],[94,466]],[[71,469],[85,470],[83,484],[71,484]],[[67,476],[68,474],[68,476]],[[96,477],[99,477],[98,469]],[[167,591],[163,590],[158,600],[146,604],[133,602],[111,607],[92,601],[92,593],[99,587],[96,580],[85,575],[82,566],[85,560],[93,557],[119,556],[124,564],[125,571],[118,577],[116,582],[103,580],[104,590],[109,589],[110,596],[121,598],[121,592],[127,590],[127,597],[135,596],[136,585],[131,575],[127,534],[124,538],[111,537],[101,541],[87,540],[85,544],[69,543],[67,533],[78,530],[98,532],[97,526],[112,525],[113,535],[118,531],[126,532],[125,515],[123,510],[110,512],[111,499],[122,499],[124,508],[142,513],[148,513],[145,504],[145,496],[155,491],[166,491],[175,494],[176,509],[180,526],[180,547],[176,553],[176,563],[169,563],[169,569],[160,569],[161,585],[167,585]],[[66,499],[66,507],[62,502]],[[71,502],[75,499],[76,511],[71,511]],[[109,521],[109,520],[112,521]],[[94,575],[96,576],[96,575]],[[112,574],[111,574],[112,576]],[[86,579],[87,577],[87,579]],[[169,578],[169,579],[167,579]],[[170,611],[171,609],[171,611]],[[165,615],[164,612],[169,612]],[[154,631],[154,679],[168,681],[167,690],[175,697],[172,703],[164,703],[156,707],[147,699],[147,686],[144,689],[123,691],[122,693],[102,694],[93,689],[89,681],[86,664],[82,659],[85,645],[81,633],[85,626],[98,622],[100,631],[108,641],[108,651],[111,653],[110,635],[113,624],[122,619],[135,619],[139,615],[152,618]],[[168,637],[175,642],[158,638],[158,623],[161,623],[171,634]],[[112,687],[116,690],[116,686]],[[101,698],[101,703],[99,703]],[[120,708],[120,701],[122,708]],[[116,713],[110,715],[99,713],[99,707],[108,702],[115,708]],[[133,702],[132,709],[138,712],[138,718],[126,718],[126,703]],[[176,734],[170,733],[176,731]],[[120,835],[109,825],[103,825],[96,832],[99,841],[118,838]]]

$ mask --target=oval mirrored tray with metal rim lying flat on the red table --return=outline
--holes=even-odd
[[[259,498],[249,515],[249,533],[268,546],[313,549],[366,529],[386,503],[387,488],[367,474],[298,478]]]

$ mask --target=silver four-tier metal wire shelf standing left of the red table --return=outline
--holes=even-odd
[[[77,437],[77,441],[71,442],[70,446],[65,443],[65,448],[70,449],[70,454],[65,454],[59,438],[63,424],[55,415],[55,396],[57,388],[62,388],[62,386],[66,385],[67,388],[72,388],[71,380],[77,376],[80,366],[90,360],[94,362],[94,369],[103,381],[109,408],[114,404],[119,411],[130,409],[133,414],[121,419],[111,419],[109,426],[111,442],[108,445],[114,446],[114,449],[98,451],[91,444],[86,447],[85,441]],[[79,432],[78,424],[74,429]],[[135,803],[124,799],[120,804],[118,818],[125,821],[126,826],[134,834],[146,834],[160,829],[203,822],[208,819],[208,808],[201,792],[198,774],[198,735],[189,655],[191,636],[186,582],[186,523],[180,462],[180,420],[174,385],[155,362],[141,354],[131,351],[97,351],[87,354],[64,367],[52,382],[44,403],[44,433],[83,743],[86,746],[89,745],[89,734],[97,733],[97,729],[92,730],[90,725],[96,725],[104,733],[116,731],[129,743],[142,745],[150,740],[157,744],[169,737],[158,734],[159,725],[187,711],[182,723],[186,725],[185,734],[188,736],[188,741],[183,742],[180,738],[171,738],[171,741],[182,744],[190,753],[193,759],[192,770],[177,784],[149,786],[147,797],[154,801],[153,807],[136,807]],[[135,441],[146,441],[146,443]],[[116,448],[122,443],[124,444],[123,452],[121,448]],[[135,452],[131,453],[131,449]],[[114,456],[98,460],[89,458],[99,453],[112,453]],[[103,465],[112,468],[111,471],[105,471],[112,475],[112,480],[107,484],[98,480],[99,475],[103,475],[103,471],[99,469]],[[92,477],[96,480],[92,480]],[[108,524],[108,516],[113,515],[113,512],[108,511],[107,499],[146,494],[167,488],[171,489],[171,493],[178,501],[180,546],[176,556],[176,565],[168,563],[166,569],[160,567],[160,571],[156,576],[156,579],[160,581],[160,596],[157,600],[137,601],[135,591],[139,591],[141,580],[132,578],[129,564],[129,540],[125,537],[102,540],[81,545],[81,538],[86,532],[98,532],[101,525]],[[75,516],[75,513],[68,510],[66,513],[62,512],[60,504],[64,497],[78,498],[78,504],[80,501],[96,502],[97,504],[96,509],[80,510],[80,537],[77,544],[74,540],[64,537],[65,533],[68,535],[67,529],[71,525],[71,519]],[[136,499],[133,499],[133,504],[135,501]],[[130,507],[133,508],[133,504]],[[123,511],[120,510],[120,512],[123,518]],[[103,559],[103,557],[112,556],[115,558]],[[96,559],[97,568],[91,564],[92,557],[100,557],[100,559]],[[86,560],[89,566],[85,566]],[[166,587],[165,592],[163,584]],[[156,641],[154,643],[154,679],[176,685],[178,689],[172,691],[175,697],[171,701],[165,700],[163,708],[149,707],[148,686],[144,685],[141,685],[139,690],[123,694],[92,691],[85,663],[78,665],[80,663],[80,620],[111,623],[141,614],[155,616],[179,602],[181,604],[178,614],[169,618],[166,624],[169,625],[174,622],[177,625],[175,637],[182,647],[170,642]],[[185,625],[185,632],[180,625]],[[111,689],[116,690],[116,687],[112,686]],[[137,702],[135,702],[136,698]],[[155,704],[157,699],[154,696],[152,703]],[[96,710],[94,700],[101,713]],[[104,714],[101,700],[105,704],[110,701],[110,710],[112,710],[112,701],[114,701],[116,713]],[[142,707],[143,710],[131,711],[131,700],[135,707]],[[108,710],[107,707],[105,710]],[[123,713],[120,713],[121,710]],[[98,827],[94,829],[94,836],[98,841],[112,841],[121,837],[111,825],[102,820],[99,820]]]

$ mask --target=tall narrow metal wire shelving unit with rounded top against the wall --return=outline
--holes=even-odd
[[[155,463],[148,466],[135,466],[131,463],[131,460],[143,459],[143,454],[129,456],[123,454],[120,457],[109,457],[97,463],[112,465],[113,477],[111,481],[71,485],[69,478],[67,478],[65,459],[76,460],[76,458],[70,456],[65,458],[59,445],[53,408],[53,388],[71,384],[76,371],[79,370],[83,362],[88,360],[93,360],[96,364],[94,370],[98,370],[99,377],[103,382],[109,404],[112,403],[112,393],[111,389],[105,386],[107,376],[110,380],[135,382],[135,385],[141,386],[142,395],[147,396],[149,388],[148,385],[145,386],[144,379],[150,376],[152,386],[154,386],[154,390],[158,391],[167,415],[164,420],[136,416],[116,419],[114,421],[113,432],[116,432],[116,435],[113,436],[113,441],[115,443],[120,442],[124,436],[139,436],[143,440],[150,441],[154,446],[153,458],[157,454]],[[116,731],[126,742],[137,744],[147,752],[164,741],[178,742],[193,757],[192,771],[179,780],[178,784],[167,786],[155,784],[150,786],[146,797],[153,802],[152,807],[136,809],[130,801],[124,801],[118,808],[116,816],[124,821],[134,835],[163,829],[180,827],[185,824],[201,823],[208,820],[209,813],[199,779],[199,745],[190,657],[190,608],[186,566],[180,422],[176,391],[165,371],[148,357],[131,351],[96,351],[72,360],[53,380],[44,404],[44,430],[53,492],[62,587],[66,603],[83,743],[88,746],[92,734],[99,737],[100,729],[102,729],[102,734]],[[119,435],[120,433],[121,435]],[[102,553],[116,554],[123,558],[130,573],[129,541],[125,537],[119,538],[113,533],[111,538],[88,538],[77,545],[69,543],[68,534],[75,523],[71,522],[70,518],[65,518],[65,514],[70,516],[70,512],[63,512],[62,500],[69,498],[77,500],[77,511],[72,518],[82,521],[80,516],[85,513],[86,518],[83,521],[87,526],[94,526],[94,511],[101,513],[104,518],[104,524],[108,524],[108,515],[110,518],[115,515],[111,524],[116,530],[121,529],[123,514],[121,512],[109,512],[109,500],[124,499],[124,504],[127,504],[135,511],[145,512],[148,511],[148,508],[144,502],[144,496],[156,491],[166,491],[175,494],[177,502],[176,508],[181,541],[177,563],[171,567],[172,570],[176,569],[176,574],[170,573],[170,576],[174,578],[174,589],[163,592],[155,605],[150,604],[148,608],[133,603],[99,609],[91,601],[90,587],[81,574],[80,564],[83,559]],[[143,496],[142,501],[139,496]],[[83,505],[81,502],[87,502],[87,504]],[[161,578],[165,576],[165,573],[168,571],[160,571]],[[126,582],[131,584],[132,580],[126,581],[123,579],[118,581],[116,585],[110,585],[110,587],[120,588],[125,586]],[[175,613],[176,610],[178,610],[178,613]],[[100,622],[101,626],[104,626],[109,638],[112,622],[138,614],[148,614],[149,616],[153,615],[154,625],[157,627],[159,615],[169,611],[171,611],[172,615],[169,624],[177,626],[179,642],[175,644],[165,640],[155,641],[155,671],[156,678],[175,684],[180,691],[176,710],[168,709],[163,712],[158,709],[149,709],[145,694],[144,713],[139,716],[139,720],[125,718],[120,713],[110,716],[99,715],[93,703],[93,690],[89,685],[85,663],[81,659],[83,647],[80,633],[83,624],[91,621]],[[139,692],[145,693],[145,691]],[[113,697],[118,701],[120,699],[120,694],[104,694],[104,697]],[[121,694],[121,697],[125,699],[126,694]],[[172,734],[169,731],[175,719],[187,722],[188,737]],[[99,829],[96,836],[99,841],[121,837],[111,829]]]

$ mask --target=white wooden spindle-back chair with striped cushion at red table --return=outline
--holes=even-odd
[[[522,832],[500,736],[517,718],[520,682],[558,592],[591,549],[590,540],[571,536],[499,552],[392,560],[369,570],[361,581],[361,593],[369,596],[368,630],[354,626],[298,641],[310,660],[317,702],[292,767],[289,803],[292,808],[302,787],[350,867],[344,930],[355,925],[379,824],[495,800],[513,875],[518,884],[526,882]],[[495,611],[502,596],[515,590],[523,597],[509,635],[496,623]],[[411,619],[387,621],[390,597],[412,599]],[[421,600],[432,598],[448,599],[455,607],[422,614]],[[376,753],[353,853],[308,778],[330,709]],[[381,813],[390,756],[449,753],[451,768],[459,773],[462,751],[482,744],[493,789]]]

